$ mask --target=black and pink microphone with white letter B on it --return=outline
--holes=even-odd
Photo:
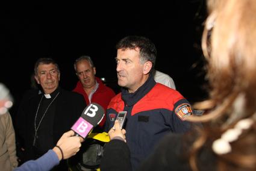
[[[83,111],[81,117],[72,126],[76,136],[86,138],[92,129],[97,126],[104,117],[104,108],[96,103],[89,104]]]

